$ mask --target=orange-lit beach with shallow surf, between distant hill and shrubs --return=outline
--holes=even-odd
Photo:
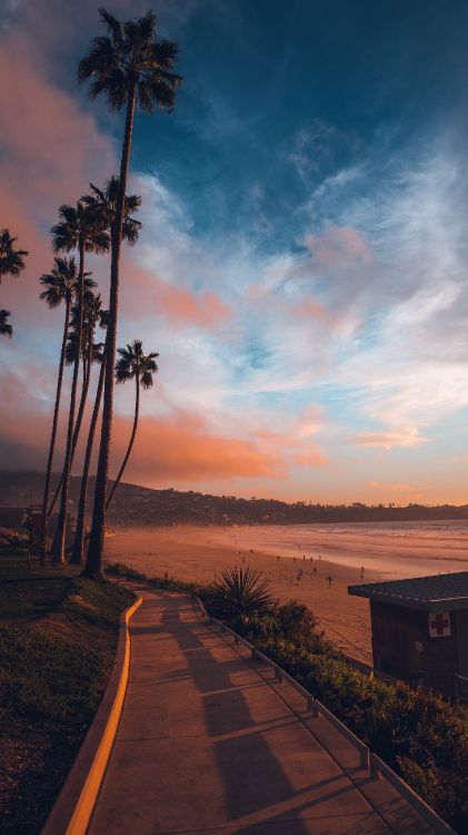
[[[371,662],[368,602],[350,597],[348,584],[468,570],[466,522],[376,528],[361,523],[117,530],[107,539],[106,558],[148,574],[168,572],[205,583],[223,569],[250,564],[268,578],[281,602],[305,602],[337,647]]]

